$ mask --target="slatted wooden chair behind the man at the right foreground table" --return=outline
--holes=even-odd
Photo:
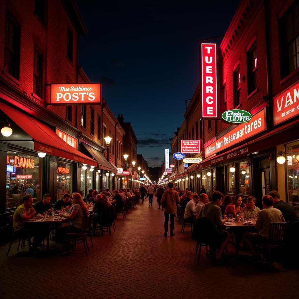
[[[287,252],[287,235],[290,222],[278,222],[270,224],[269,231],[269,243],[268,244],[258,244],[259,247],[263,249],[268,249],[270,266],[273,264],[271,250],[277,248],[283,248],[286,262],[286,269],[289,270],[288,265],[288,252]],[[264,260],[264,250],[263,250],[263,260]]]

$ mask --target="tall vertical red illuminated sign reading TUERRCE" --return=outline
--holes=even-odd
[[[216,44],[202,43],[202,118],[217,118]]]

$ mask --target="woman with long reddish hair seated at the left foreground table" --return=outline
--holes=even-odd
[[[79,193],[73,193],[71,196],[72,207],[69,214],[62,213],[61,216],[70,220],[70,225],[60,229],[60,234],[64,239],[62,246],[62,254],[66,254],[71,249],[70,241],[67,233],[80,233],[83,230],[84,221],[89,215],[89,211],[83,202],[82,196]]]

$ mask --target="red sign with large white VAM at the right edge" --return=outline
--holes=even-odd
[[[273,98],[274,126],[299,115],[299,81]]]

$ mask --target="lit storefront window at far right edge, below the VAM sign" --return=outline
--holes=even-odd
[[[288,200],[299,202],[299,142],[287,144]]]

